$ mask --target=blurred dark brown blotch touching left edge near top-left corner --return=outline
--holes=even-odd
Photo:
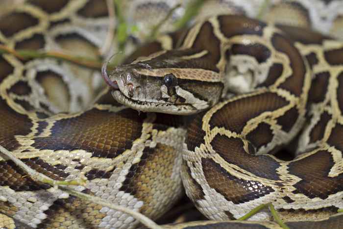
[[[20,30],[28,29],[38,23],[37,18],[27,13],[12,13],[0,17],[0,31],[4,36],[10,37]]]

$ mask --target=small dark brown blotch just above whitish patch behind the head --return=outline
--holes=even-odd
[[[233,44],[231,46],[231,53],[234,55],[243,54],[255,57],[258,63],[266,62],[270,58],[270,50],[262,44]]]

